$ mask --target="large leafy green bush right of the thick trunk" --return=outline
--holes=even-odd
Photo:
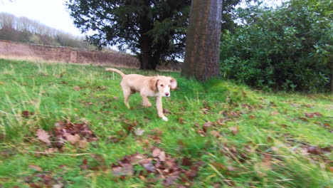
[[[332,1],[288,1],[276,9],[238,9],[242,22],[224,31],[224,78],[270,89],[325,91],[332,70]]]

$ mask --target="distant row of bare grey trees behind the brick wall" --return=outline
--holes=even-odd
[[[96,47],[85,42],[83,36],[73,36],[38,21],[12,14],[0,13],[0,39],[21,43],[36,43],[51,46],[68,46],[86,50]]]

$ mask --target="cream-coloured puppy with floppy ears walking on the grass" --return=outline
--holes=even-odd
[[[170,89],[177,87],[176,79],[164,75],[144,76],[138,74],[125,75],[122,71],[115,68],[105,68],[105,71],[113,71],[122,76],[120,85],[124,93],[124,103],[129,108],[129,95],[139,93],[142,97],[142,105],[144,107],[152,106],[148,97],[156,98],[157,114],[162,120],[167,121],[168,118],[163,114],[162,97],[170,97]]]

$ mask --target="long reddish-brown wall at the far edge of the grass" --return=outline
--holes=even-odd
[[[139,61],[125,53],[85,51],[76,48],[16,43],[0,40],[0,56],[36,61],[93,63],[118,67],[139,68]]]

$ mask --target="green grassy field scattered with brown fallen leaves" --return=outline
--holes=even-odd
[[[332,187],[332,95],[122,71],[176,78],[168,122],[103,67],[0,59],[0,187]]]

